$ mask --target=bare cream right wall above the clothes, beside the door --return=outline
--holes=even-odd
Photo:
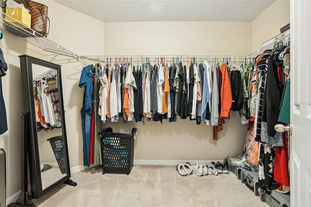
[[[290,23],[290,0],[276,0],[252,21],[252,52]],[[251,53],[251,52],[249,52]]]

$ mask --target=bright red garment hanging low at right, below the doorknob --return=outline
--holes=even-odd
[[[286,135],[283,132],[283,140],[285,142]],[[286,153],[286,144],[283,147],[276,147],[276,157],[275,157],[275,169],[273,173],[273,178],[276,182],[284,185],[290,186],[290,178],[288,174],[288,161]]]

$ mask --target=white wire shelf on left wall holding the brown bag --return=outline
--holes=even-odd
[[[10,20],[9,20],[10,19]],[[16,22],[16,23],[15,23]],[[18,22],[13,17],[10,17],[0,11],[0,28],[12,35],[24,39],[26,42],[37,46],[46,51],[62,53],[73,57],[78,57],[77,54],[67,50],[59,44],[53,42],[49,38],[37,33],[35,30],[27,27],[26,25]]]

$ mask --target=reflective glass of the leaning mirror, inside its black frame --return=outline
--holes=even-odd
[[[36,131],[42,190],[65,177],[66,160],[61,125],[57,70],[32,64]]]

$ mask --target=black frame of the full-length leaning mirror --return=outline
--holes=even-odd
[[[28,55],[20,55],[20,69],[21,69],[21,80],[22,80],[22,92],[24,101],[24,111],[29,113],[29,135],[24,135],[24,138],[28,139],[28,162],[29,162],[29,173],[31,182],[32,198],[40,198],[42,195],[46,194],[50,190],[54,189],[61,183],[67,183],[70,185],[72,182],[69,178],[70,167],[69,167],[69,155],[68,155],[68,145],[67,145],[67,134],[66,134],[66,124],[65,124],[65,111],[63,102],[63,92],[62,89],[59,90],[59,102],[60,102],[60,112],[61,112],[61,122],[62,122],[62,133],[63,142],[65,150],[66,159],[66,175],[60,180],[53,183],[51,186],[42,190],[42,180],[40,173],[40,159],[38,150],[38,137],[36,131],[36,116],[35,116],[35,101],[34,101],[34,90],[33,90],[33,71],[32,64],[40,65],[50,69],[57,70],[57,79],[59,88],[62,88],[61,80],[61,66],[41,60]],[[74,183],[74,182],[73,182]],[[75,183],[74,183],[75,184]],[[73,186],[76,186],[76,184]],[[72,185],[72,183],[71,183]]]

